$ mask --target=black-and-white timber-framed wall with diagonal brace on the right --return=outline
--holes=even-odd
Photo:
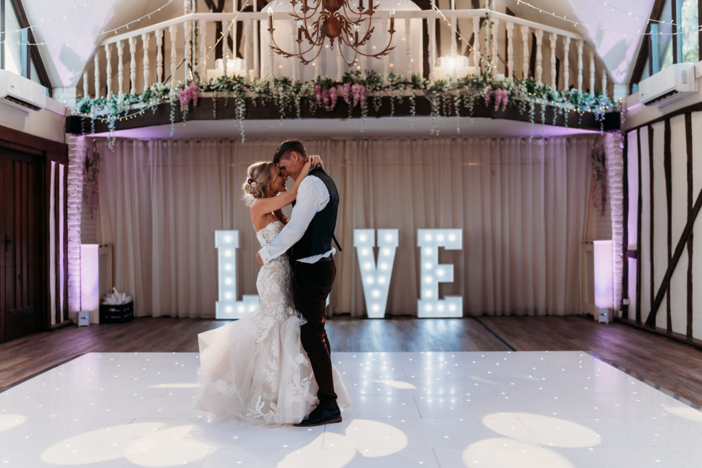
[[[702,347],[702,103],[624,132],[622,320]],[[627,229],[628,228],[628,229]],[[695,284],[697,283],[697,284]]]

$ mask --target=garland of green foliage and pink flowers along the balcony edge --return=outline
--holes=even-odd
[[[197,76],[195,78],[197,80]],[[241,76],[220,76],[206,83],[181,81],[173,88],[168,84],[155,83],[139,95],[83,98],[79,100],[74,111],[86,119],[107,121],[112,135],[116,121],[133,118],[135,114],[143,113],[144,109],[152,109],[152,112],[155,112],[157,105],[161,102],[169,102],[171,135],[173,135],[176,100],[180,102],[180,112],[182,119],[185,120],[190,105],[197,106],[201,93],[212,93],[215,103],[216,98],[225,97],[225,107],[229,105],[230,99],[234,101],[236,106],[234,114],[242,141],[244,141],[246,98],[253,98],[249,101],[253,105],[268,105],[272,101],[280,112],[281,121],[292,115],[299,119],[304,106],[315,116],[321,109],[332,112],[341,98],[347,106],[349,118],[352,117],[353,109],[360,110],[363,131],[368,116],[369,98],[372,99],[373,109],[376,112],[380,109],[383,98],[388,99],[390,116],[395,114],[397,103],[409,101],[414,124],[416,96],[424,95],[430,103],[432,135],[439,134],[440,117],[445,118],[449,115],[456,116],[456,133],[460,133],[461,109],[468,109],[468,114],[473,115],[475,103],[479,100],[482,100],[486,107],[492,106],[496,112],[505,112],[509,106],[516,106],[522,114],[528,112],[531,136],[534,135],[536,105],[540,106],[542,129],[546,124],[547,107],[550,107],[553,112],[552,124],[557,121],[557,116],[562,115],[567,126],[570,112],[576,112],[579,126],[583,114],[588,112],[594,114],[595,121],[600,122],[601,130],[604,129],[605,114],[621,110],[621,100],[614,102],[603,93],[590,95],[576,89],[555,90],[544,83],[537,83],[534,79],[519,79],[512,82],[501,75],[480,74],[463,76],[455,80],[431,81],[418,74],[414,74],[410,79],[390,74],[387,80],[383,80],[377,72],[367,72],[363,76],[355,71],[346,73],[340,81],[319,77],[313,81],[293,82],[286,77],[271,80],[270,77],[265,76],[263,79],[246,83]],[[213,119],[217,118],[217,112],[216,105],[213,105]],[[114,137],[111,136],[110,147],[112,142]]]

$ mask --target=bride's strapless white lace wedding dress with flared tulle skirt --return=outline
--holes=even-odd
[[[263,247],[284,227],[275,221],[260,229]],[[317,399],[317,382],[300,343],[305,319],[293,306],[292,270],[287,255],[258,272],[260,306],[243,319],[200,333],[199,395],[195,409],[218,419],[241,417],[267,425],[296,423]],[[333,369],[340,407],[348,393]]]

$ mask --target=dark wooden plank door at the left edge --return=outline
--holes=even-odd
[[[44,158],[0,147],[0,342],[44,328]]]

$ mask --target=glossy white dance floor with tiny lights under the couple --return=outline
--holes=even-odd
[[[198,355],[86,354],[0,394],[0,467],[699,467],[702,413],[584,352],[336,353],[309,429],[191,409]]]

